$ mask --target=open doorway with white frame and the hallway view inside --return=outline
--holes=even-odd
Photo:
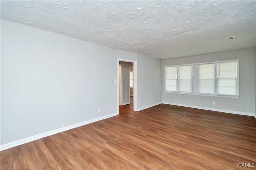
[[[137,109],[136,65],[137,61],[118,59],[118,113],[120,105]]]

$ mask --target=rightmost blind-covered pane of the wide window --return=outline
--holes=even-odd
[[[218,63],[218,94],[237,95],[237,62]]]

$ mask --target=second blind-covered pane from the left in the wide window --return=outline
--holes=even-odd
[[[192,92],[192,65],[179,66],[179,92]]]

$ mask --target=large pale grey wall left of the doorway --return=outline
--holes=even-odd
[[[117,114],[116,65],[115,49],[1,19],[1,145]]]

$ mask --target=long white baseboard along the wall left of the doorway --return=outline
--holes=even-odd
[[[118,113],[112,113],[112,114],[109,114],[109,115],[105,115],[105,116],[102,116],[102,117],[97,117],[97,118],[94,118],[94,119],[90,119],[88,121],[83,121],[83,122],[80,122],[80,123],[76,123],[74,125],[69,125],[69,126],[66,126],[66,127],[62,127],[62,128],[59,128],[59,129],[55,129],[55,130],[52,130],[52,131],[48,131],[48,132],[45,132],[45,133],[34,135],[32,137],[27,137],[27,138],[24,138],[24,139],[20,139],[18,141],[14,141],[14,142],[11,142],[11,143],[0,145],[0,151],[5,150],[5,149],[9,149],[9,148],[12,148],[12,147],[16,147],[16,146],[22,145],[24,143],[32,142],[32,141],[35,141],[37,139],[41,139],[41,138],[44,138],[44,137],[47,137],[47,136],[50,136],[50,135],[54,135],[56,133],[67,131],[67,130],[70,130],[70,129],[73,129],[73,128],[76,128],[76,127],[87,125],[89,123],[100,121],[102,119],[113,117],[113,116],[116,116],[116,115],[118,115]]]

